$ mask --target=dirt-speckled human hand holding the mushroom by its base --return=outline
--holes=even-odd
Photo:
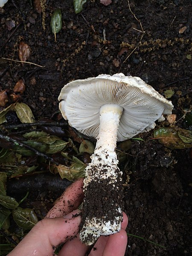
[[[61,243],[64,245],[58,256],[84,256],[90,247],[79,240],[80,211],[73,211],[81,204],[83,197],[83,179],[81,178],[64,191],[55,206],[48,212],[47,217],[39,221],[8,256],[52,256],[55,248]],[[124,256],[127,245],[125,231],[127,224],[127,215],[123,213],[120,232],[101,236],[89,255]]]

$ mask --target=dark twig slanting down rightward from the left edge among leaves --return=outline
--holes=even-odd
[[[4,141],[6,140],[7,142],[11,142],[11,143],[14,143],[15,145],[19,145],[19,146],[21,146],[21,147],[24,147],[24,148],[26,148],[26,149],[29,149],[29,150],[33,151],[37,156],[44,157],[46,160],[49,160],[49,161],[51,161],[52,163],[55,163],[56,165],[59,165],[59,164],[60,164],[60,163],[56,162],[55,160],[53,160],[52,157],[47,156],[47,154],[44,154],[44,153],[42,153],[42,152],[39,152],[39,151],[37,151],[35,148],[32,148],[32,147],[30,147],[29,145],[26,145],[24,142],[21,142],[21,141],[19,141],[19,140],[16,140],[16,139],[14,139],[14,138],[12,138],[12,137],[10,137],[10,136],[8,136],[8,135],[0,134],[0,139],[2,139],[2,140],[4,140]]]

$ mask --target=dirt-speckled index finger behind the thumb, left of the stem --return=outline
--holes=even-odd
[[[54,207],[47,213],[46,218],[62,217],[79,207],[84,198],[83,180],[80,178],[65,189]]]

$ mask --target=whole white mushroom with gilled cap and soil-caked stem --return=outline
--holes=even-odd
[[[69,124],[97,139],[85,169],[80,240],[93,244],[99,236],[119,232],[122,222],[122,172],[116,142],[154,128],[173,105],[139,77],[99,75],[66,84],[58,97]]]

